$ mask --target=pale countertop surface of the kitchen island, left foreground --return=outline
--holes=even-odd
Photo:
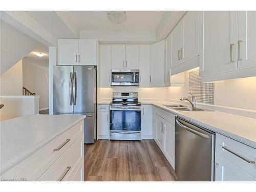
[[[86,115],[26,115],[0,122],[1,170],[5,173]]]

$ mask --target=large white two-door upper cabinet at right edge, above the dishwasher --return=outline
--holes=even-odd
[[[203,81],[256,76],[256,11],[203,11]]]

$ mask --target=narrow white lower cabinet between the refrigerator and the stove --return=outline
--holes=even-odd
[[[98,139],[109,139],[110,133],[110,110],[109,105],[98,104],[97,111],[97,134]]]

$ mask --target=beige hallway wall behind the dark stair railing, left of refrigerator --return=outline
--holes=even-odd
[[[40,95],[39,109],[49,108],[49,70],[23,63],[23,86]]]

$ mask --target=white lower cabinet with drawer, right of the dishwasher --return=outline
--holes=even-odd
[[[216,133],[215,181],[256,181],[256,150]]]

